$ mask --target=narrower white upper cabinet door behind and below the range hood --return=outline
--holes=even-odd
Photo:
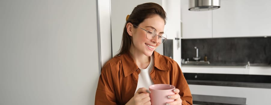
[[[181,0],[182,38],[212,38],[212,11],[190,11]]]

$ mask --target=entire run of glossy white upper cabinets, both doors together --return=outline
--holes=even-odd
[[[221,0],[221,7],[189,11],[181,0],[182,38],[271,36],[271,0]]]

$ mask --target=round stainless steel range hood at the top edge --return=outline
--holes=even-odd
[[[220,8],[220,0],[189,0],[191,11],[214,10]]]

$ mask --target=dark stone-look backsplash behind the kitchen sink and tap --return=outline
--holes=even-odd
[[[181,57],[193,61],[196,46],[200,60],[215,63],[271,63],[271,38],[181,39]]]

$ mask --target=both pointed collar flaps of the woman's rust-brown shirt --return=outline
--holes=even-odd
[[[164,70],[164,71],[170,70],[167,65],[168,62],[166,61],[165,57],[163,57],[156,51],[154,51],[153,54],[154,54],[154,67],[156,67],[159,70]],[[136,65],[134,59],[132,58],[129,52],[121,54],[120,58],[121,58],[123,73],[125,77],[135,72],[135,70],[139,69],[139,67]]]

